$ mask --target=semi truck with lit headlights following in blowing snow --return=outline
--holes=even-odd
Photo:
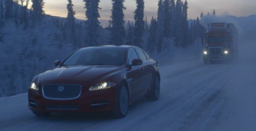
[[[204,64],[220,60],[233,61],[238,55],[237,28],[233,23],[210,23],[201,43],[204,45]]]

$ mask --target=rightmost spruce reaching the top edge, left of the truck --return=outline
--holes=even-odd
[[[183,41],[182,46],[186,47],[189,44],[189,25],[187,20],[187,0],[185,0],[184,5],[182,7],[183,21],[182,21],[182,31],[183,31]]]

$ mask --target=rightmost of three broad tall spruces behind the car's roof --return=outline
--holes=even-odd
[[[144,0],[136,0],[137,9],[134,12],[134,45],[141,47],[143,43],[142,36],[144,33]]]

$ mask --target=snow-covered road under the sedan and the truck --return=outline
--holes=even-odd
[[[256,131],[256,43],[244,44],[236,64],[204,65],[200,59],[161,66],[160,99],[139,100],[122,119],[58,113],[36,117],[25,93],[0,98],[0,130]]]

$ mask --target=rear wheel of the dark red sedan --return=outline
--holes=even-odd
[[[146,95],[148,100],[158,100],[160,97],[160,78],[157,76],[154,81],[154,86]]]

